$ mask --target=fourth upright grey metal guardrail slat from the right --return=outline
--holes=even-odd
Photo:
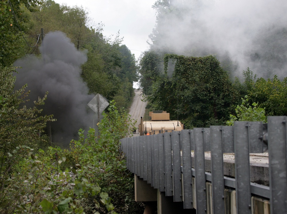
[[[203,128],[194,128],[194,159],[195,159],[195,189],[196,189],[196,212],[198,214],[206,211],[206,188],[204,167],[204,137]]]

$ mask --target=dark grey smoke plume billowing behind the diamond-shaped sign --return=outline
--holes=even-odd
[[[79,128],[88,128],[93,121],[87,104],[94,95],[88,95],[80,77],[86,53],[77,51],[61,32],[46,35],[40,50],[42,58],[30,56],[15,62],[15,66],[22,67],[16,74],[15,89],[28,84],[30,101],[48,91],[43,114],[53,114],[57,119],[51,123],[53,142],[69,142]]]

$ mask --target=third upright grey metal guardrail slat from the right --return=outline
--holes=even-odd
[[[210,126],[210,139],[212,208],[214,214],[222,214],[225,213],[222,126]]]

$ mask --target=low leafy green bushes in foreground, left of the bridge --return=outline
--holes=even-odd
[[[0,169],[0,211],[6,213],[138,213],[133,176],[125,167],[119,139],[134,122],[110,103],[100,137],[79,130],[69,150],[16,146]],[[4,168],[3,168],[4,166]]]

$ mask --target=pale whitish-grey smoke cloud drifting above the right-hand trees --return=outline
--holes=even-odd
[[[152,50],[216,56],[240,76],[250,67],[264,78],[287,70],[287,1],[156,1]]]

